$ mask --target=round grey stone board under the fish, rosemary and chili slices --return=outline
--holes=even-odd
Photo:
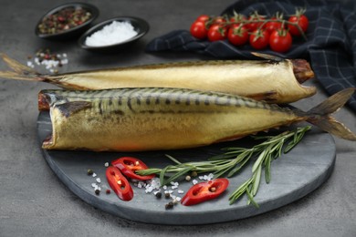
[[[40,144],[51,133],[51,130],[49,114],[41,112],[37,119]],[[197,149],[148,152],[43,150],[43,154],[49,167],[58,175],[59,180],[90,205],[136,222],[172,225],[227,222],[277,209],[317,189],[330,177],[335,164],[334,140],[330,134],[313,128],[307,132],[297,147],[272,162],[269,184],[264,179],[264,172],[262,173],[261,184],[255,197],[259,208],[252,204],[247,205],[246,195],[232,205],[228,201],[230,194],[251,177],[253,162],[248,163],[246,168],[233,178],[229,178],[229,187],[222,196],[194,206],[186,207],[178,203],[172,210],[165,210],[165,204],[169,200],[164,197],[157,199],[153,192],[146,193],[144,188],[140,189],[135,186],[132,186],[134,197],[131,201],[121,201],[113,191],[110,194],[105,193],[109,184],[105,177],[106,167],[104,164],[119,157],[134,156],[144,161],[149,167],[163,168],[172,164],[172,161],[164,154],[169,154],[181,162],[206,160],[213,155],[221,154],[221,148],[246,147],[251,146],[253,142],[253,139],[246,138]],[[94,170],[98,176],[95,178],[89,176],[87,174],[89,169]],[[95,194],[91,186],[96,182],[96,178],[101,180],[99,186],[102,187],[102,190],[99,195]],[[195,179],[201,181],[198,177]],[[185,191],[192,185],[192,181],[182,180],[179,188],[174,190],[173,194],[183,197]],[[171,190],[170,187],[168,190]],[[184,193],[178,194],[178,190],[182,190]]]

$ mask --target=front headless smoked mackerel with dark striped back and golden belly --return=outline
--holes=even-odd
[[[335,105],[343,105],[351,93]],[[328,128],[330,120],[329,114],[322,115],[319,108],[310,115],[251,98],[180,88],[44,90],[39,98],[41,103],[47,98],[53,128],[43,149],[186,149],[239,139],[309,118],[313,124],[318,126],[322,121]],[[70,106],[73,103],[75,107]],[[346,128],[334,134],[347,134],[345,138],[356,140]]]

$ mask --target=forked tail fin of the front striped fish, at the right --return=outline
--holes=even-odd
[[[309,109],[307,121],[340,139],[356,140],[356,134],[345,125],[331,117],[339,110],[355,92],[356,88],[346,88],[321,102],[318,106]]]

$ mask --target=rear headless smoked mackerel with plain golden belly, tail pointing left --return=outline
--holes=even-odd
[[[282,58],[277,60],[276,57],[262,54],[257,56],[267,59],[207,60],[41,75],[3,54],[5,63],[13,68],[14,72],[0,71],[0,77],[42,81],[60,88],[77,90],[190,88],[277,104],[295,102],[317,92],[315,87],[304,87],[299,83],[314,77],[307,61]]]

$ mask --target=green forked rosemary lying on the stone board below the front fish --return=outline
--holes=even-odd
[[[237,201],[243,194],[248,197],[247,204],[254,204],[258,207],[254,197],[257,194],[262,176],[262,168],[265,167],[265,180],[270,181],[270,167],[272,160],[281,156],[282,152],[287,153],[293,149],[304,137],[304,134],[311,129],[310,126],[288,130],[275,136],[258,136],[254,139],[265,139],[265,141],[252,148],[225,148],[225,153],[214,156],[209,160],[182,163],[172,156],[166,155],[175,164],[166,166],[163,169],[150,168],[147,170],[137,170],[140,175],[158,174],[161,185],[177,180],[184,174],[191,171],[197,173],[213,172],[215,178],[226,175],[231,177],[245,167],[246,162],[251,158],[257,158],[252,166],[252,176],[246,180],[229,197],[230,204]],[[284,148],[284,149],[283,149]],[[168,177],[168,178],[167,178]]]

